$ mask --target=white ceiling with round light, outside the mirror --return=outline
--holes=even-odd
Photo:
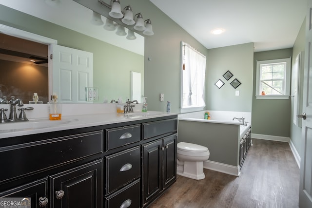
[[[255,51],[291,48],[307,0],[150,0],[207,49],[254,42]],[[223,28],[221,35],[213,35]]]

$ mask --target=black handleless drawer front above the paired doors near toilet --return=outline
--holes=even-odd
[[[165,133],[176,132],[176,130],[177,120],[175,118],[143,123],[144,139],[152,138]]]

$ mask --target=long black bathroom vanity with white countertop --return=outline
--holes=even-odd
[[[174,113],[29,122],[0,126],[0,197],[31,197],[32,208],[142,208],[176,181]]]

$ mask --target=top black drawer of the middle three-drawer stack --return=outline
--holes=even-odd
[[[141,139],[141,126],[140,124],[137,124],[107,129],[106,138],[108,150],[138,142]]]

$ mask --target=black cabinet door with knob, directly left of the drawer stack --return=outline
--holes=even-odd
[[[102,159],[50,176],[51,208],[102,208]]]

